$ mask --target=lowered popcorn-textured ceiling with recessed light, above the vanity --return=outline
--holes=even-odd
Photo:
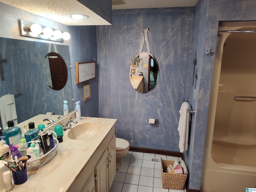
[[[65,25],[110,25],[77,0],[0,0],[0,2]],[[75,20],[69,18],[68,14],[84,14],[89,18]]]

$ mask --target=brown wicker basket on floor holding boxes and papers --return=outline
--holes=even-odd
[[[166,169],[169,165],[173,165],[173,163],[174,161],[162,159],[161,167],[163,188],[183,190],[188,173],[186,173],[186,175],[167,173]]]

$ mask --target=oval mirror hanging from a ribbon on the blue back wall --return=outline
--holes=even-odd
[[[149,52],[140,52],[130,64],[130,82],[139,93],[152,91],[159,79],[159,66],[156,58]]]

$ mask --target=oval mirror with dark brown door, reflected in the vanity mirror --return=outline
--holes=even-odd
[[[43,61],[43,76],[53,90],[61,90],[68,80],[68,70],[64,59],[55,52],[48,53]]]

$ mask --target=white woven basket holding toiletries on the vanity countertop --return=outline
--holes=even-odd
[[[27,170],[35,170],[48,163],[57,154],[58,144],[59,141],[54,139],[54,148],[52,148],[49,152],[47,152],[46,154],[37,159],[31,161],[28,160],[26,164]]]

